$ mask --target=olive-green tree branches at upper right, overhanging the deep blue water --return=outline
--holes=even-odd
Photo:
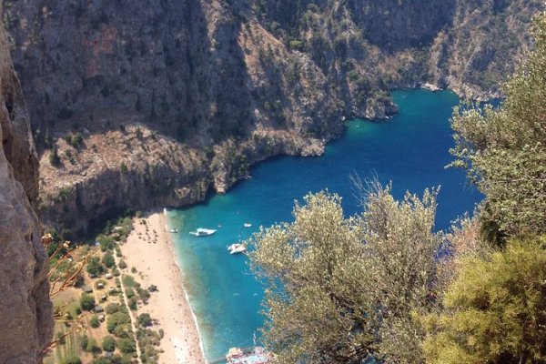
[[[493,237],[546,231],[545,14],[537,17],[532,34],[535,49],[504,86],[501,107],[467,105],[453,113],[452,166],[467,168],[486,195],[484,221],[500,230]]]

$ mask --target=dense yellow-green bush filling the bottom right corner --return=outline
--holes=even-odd
[[[461,259],[444,309],[424,319],[431,364],[546,362],[546,238]]]

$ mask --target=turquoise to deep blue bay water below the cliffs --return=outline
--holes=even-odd
[[[401,198],[406,190],[422,194],[441,185],[436,227],[471,212],[480,200],[463,171],[445,169],[452,147],[449,118],[458,103],[446,91],[406,90],[393,93],[400,113],[389,122],[353,120],[322,157],[277,157],[252,169],[252,178],[203,204],[169,210],[170,227],[197,316],[207,359],[222,357],[233,346],[250,346],[263,319],[263,288],[250,274],[247,258],[230,256],[227,245],[245,239],[260,225],[290,221],[295,199],[328,188],[343,197],[347,215],[360,211],[349,176],[378,177],[392,182]],[[244,223],[253,224],[250,228]],[[221,227],[217,227],[221,226]],[[215,235],[196,238],[197,227],[217,228]]]

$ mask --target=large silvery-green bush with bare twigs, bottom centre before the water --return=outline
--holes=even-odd
[[[308,195],[294,223],[248,242],[268,283],[263,339],[279,362],[420,362],[411,313],[428,312],[434,295],[436,192],[398,202],[372,187],[360,216],[345,218],[336,195]]]

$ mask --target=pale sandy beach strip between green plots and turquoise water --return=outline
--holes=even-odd
[[[135,220],[135,229],[121,246],[127,269],[137,269],[136,280],[143,287],[156,285],[148,304],[138,308],[138,314],[148,312],[159,321],[155,329],[163,329],[161,340],[164,352],[161,364],[206,363],[197,325],[184,291],[184,280],[177,266],[174,246],[167,231],[167,217],[155,212]]]

